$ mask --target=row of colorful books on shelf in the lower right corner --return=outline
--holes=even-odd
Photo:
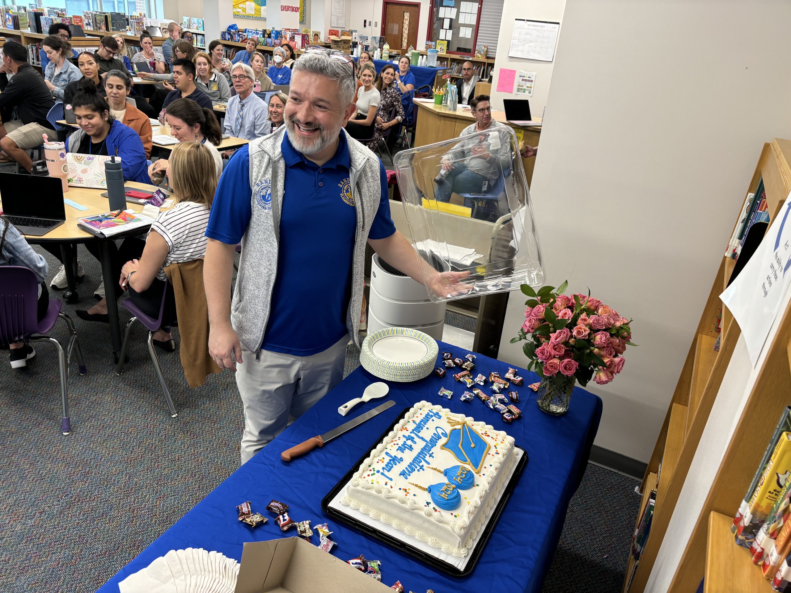
[[[736,543],[775,591],[791,591],[791,406],[782,416],[733,519]]]

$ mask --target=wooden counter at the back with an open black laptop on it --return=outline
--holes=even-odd
[[[458,138],[465,127],[475,123],[475,115],[472,115],[469,109],[463,109],[461,105],[456,111],[450,111],[441,105],[420,103],[418,101],[414,102],[414,106],[417,108],[416,115],[418,118],[418,125],[414,132],[415,146],[425,146],[434,142]],[[520,142],[527,142],[530,146],[538,145],[541,134],[540,126],[514,126],[512,123],[505,121],[505,111],[492,111],[492,117],[500,123],[505,123],[506,126],[513,127]],[[533,119],[536,122],[541,122],[540,118]],[[533,168],[536,165],[536,159],[534,157],[523,158],[522,164],[524,164],[524,175],[528,178],[529,184],[533,178]]]

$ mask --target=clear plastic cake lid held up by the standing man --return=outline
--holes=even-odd
[[[510,127],[405,150],[394,166],[418,257],[437,271],[469,272],[463,290],[430,290],[431,300],[543,284],[528,183]]]

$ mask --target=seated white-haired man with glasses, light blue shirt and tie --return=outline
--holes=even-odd
[[[247,64],[237,63],[231,67],[231,81],[237,94],[228,100],[225,107],[223,134],[255,140],[271,133],[272,123],[267,119],[269,108],[252,92],[254,76]]]

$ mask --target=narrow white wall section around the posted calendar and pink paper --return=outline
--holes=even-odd
[[[528,97],[530,100],[530,111],[532,115],[541,117],[544,105],[547,104],[552,69],[554,64],[558,62],[558,49],[564,35],[563,10],[565,7],[566,0],[505,0],[502,9],[502,26],[497,44],[497,57],[494,59],[494,77],[492,78],[491,93],[492,107],[502,109],[503,99],[517,98],[515,94],[498,92],[497,84],[500,69],[517,70],[517,74],[519,74],[519,70],[526,70],[527,72],[536,73],[536,82],[533,84],[533,96]],[[561,30],[558,33],[558,45],[555,46],[554,62],[509,58],[508,50],[511,47],[513,21],[517,18],[532,19],[533,21],[553,21],[561,24]],[[516,82],[513,86],[516,89]]]

